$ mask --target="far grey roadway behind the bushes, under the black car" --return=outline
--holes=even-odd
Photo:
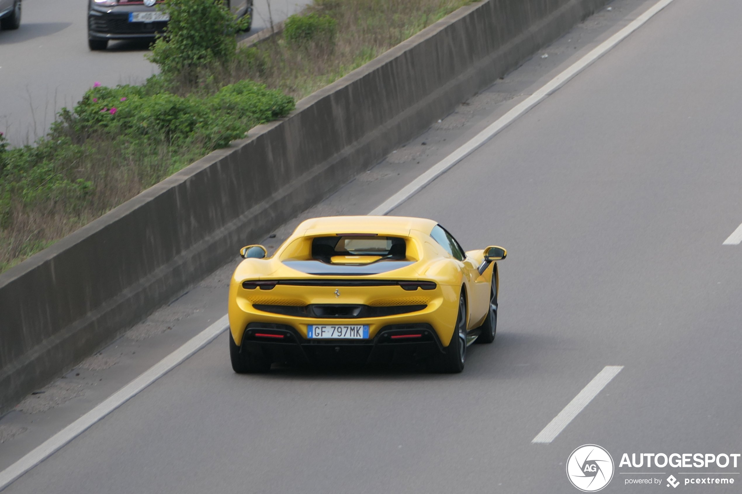
[[[250,36],[286,19],[308,0],[255,0]],[[270,13],[268,5],[270,4]],[[139,84],[157,72],[145,60],[148,41],[115,41],[88,50],[85,0],[23,0],[21,27],[0,30],[0,132],[14,145],[47,132],[61,107],[73,107],[101,84]]]

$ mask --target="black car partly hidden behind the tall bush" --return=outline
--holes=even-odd
[[[91,50],[105,50],[109,39],[154,39],[168,24],[168,15],[155,8],[159,3],[160,0],[88,0],[88,46]],[[250,16],[252,25],[252,0],[227,0],[227,4],[237,17]]]

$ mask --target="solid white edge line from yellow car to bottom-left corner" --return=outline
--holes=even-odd
[[[227,327],[229,327],[229,321],[227,316],[223,316],[214,324],[207,327],[206,330],[203,330],[201,333],[198,333],[196,336],[188,340],[182,347],[157,362],[157,364],[154,364],[154,366],[146,370],[145,373],[142,373],[138,378],[135,378],[134,381],[131,381],[125,387],[122,387],[120,390],[116,391],[116,393],[106,398],[105,401],[102,401],[102,403],[93,408],[93,410],[82,415],[82,417],[59,431],[59,433],[56,433],[44,441],[41,445],[36,447],[35,450],[19,459],[19,461],[16,461],[16,463],[10,465],[10,467],[7,467],[0,473],[0,490],[3,490],[5,487],[10,485],[10,483],[15,481],[16,478],[19,478],[28,470],[36,467],[36,465],[44,461],[56,450],[59,450],[61,447],[65,446],[65,444],[68,444],[68,442],[85,432],[85,430],[88,430],[88,428],[97,421],[116,410],[116,408],[120,407],[122,404],[125,404],[126,401],[134,395],[137,395],[137,393],[144,390],[145,387],[148,387],[154,381],[157,381],[157,379],[161,378],[162,375],[168,373],[168,371],[172,370],[186,358],[190,357],[198,350],[201,350],[203,347],[206,347],[206,345],[213,341],[214,338],[223,333]]]

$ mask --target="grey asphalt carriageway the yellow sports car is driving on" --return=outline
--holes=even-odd
[[[619,467],[622,453],[742,453],[742,245],[723,245],[742,222],[741,18],[735,0],[674,1],[393,212],[436,218],[467,249],[508,248],[498,336],[470,347],[464,373],[236,375],[223,334],[6,492],[575,493],[565,462],[582,444],[614,456],[603,492],[668,488],[625,485],[637,472],[741,472]],[[539,64],[571,63],[569,41],[483,96],[548,80],[561,66]],[[421,140],[445,156],[520,98]],[[400,162],[315,213],[375,206]],[[532,444],[607,365],[624,367]],[[738,493],[730,477],[680,488]]]

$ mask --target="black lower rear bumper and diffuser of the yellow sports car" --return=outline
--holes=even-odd
[[[391,324],[365,340],[306,339],[286,324],[251,323],[240,351],[273,362],[370,364],[417,361],[441,355],[444,347],[430,324]]]

